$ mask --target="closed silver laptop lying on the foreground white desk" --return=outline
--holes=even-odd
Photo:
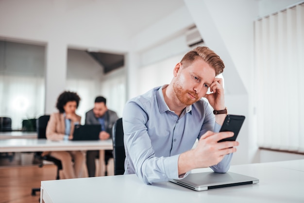
[[[202,191],[220,187],[256,184],[259,182],[259,179],[233,172],[201,172],[190,173],[184,179],[172,179],[170,182],[194,189],[196,191]]]

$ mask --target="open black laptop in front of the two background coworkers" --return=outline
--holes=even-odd
[[[99,140],[101,125],[75,125],[73,140]]]

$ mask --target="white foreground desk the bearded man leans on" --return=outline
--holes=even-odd
[[[287,169],[297,165],[297,169]],[[41,203],[303,203],[304,160],[231,166],[254,185],[194,191],[170,182],[145,185],[136,175],[41,181]],[[196,169],[210,171],[210,169]]]

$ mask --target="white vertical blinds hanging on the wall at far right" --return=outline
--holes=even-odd
[[[258,145],[304,152],[304,3],[254,22]]]

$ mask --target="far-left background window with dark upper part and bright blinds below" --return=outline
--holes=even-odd
[[[44,114],[44,58],[44,46],[0,41],[0,116],[13,130]]]

